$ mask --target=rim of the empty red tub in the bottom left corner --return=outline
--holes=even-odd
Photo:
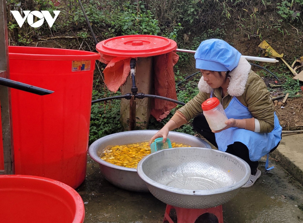
[[[76,206],[76,208],[75,208],[75,218],[73,220],[73,223],[84,221],[85,207],[84,207],[83,200],[82,200],[81,196],[77,193],[77,191],[75,191],[75,189],[68,186],[67,184],[62,183],[60,181],[50,179],[50,178],[31,176],[31,175],[0,175],[0,179],[1,178],[34,179],[34,180],[38,180],[38,181],[44,181],[44,182],[47,182],[47,183],[51,183],[53,185],[56,185],[56,186],[59,186],[59,187],[65,189],[72,196],[72,198],[75,202],[75,206]]]

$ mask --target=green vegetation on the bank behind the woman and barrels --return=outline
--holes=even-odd
[[[58,6],[54,6],[51,0],[6,2],[9,45],[95,50],[92,34],[77,0],[61,1]],[[245,50],[256,47],[256,42],[268,38],[281,39],[279,43],[273,44],[279,44],[284,50],[291,48],[289,54],[295,49],[301,49],[303,0],[82,0],[82,4],[98,41],[119,35],[151,34],[175,40],[178,48],[195,50],[205,39],[223,39],[229,35],[231,45],[233,38],[242,38]],[[39,28],[32,28],[27,20],[20,28],[11,11],[20,11],[21,8],[31,11],[48,10],[52,16],[53,10],[61,10],[61,13],[51,28],[46,22]],[[297,41],[289,43],[292,36],[296,36]],[[249,45],[247,39],[255,42]],[[175,65],[176,83],[188,76],[182,71],[192,67],[194,61],[191,54],[178,55],[180,58]],[[289,55],[292,58],[294,56],[301,55]],[[93,100],[120,94],[113,94],[105,87],[102,72],[99,72],[104,67],[104,64],[100,64],[96,68]],[[301,92],[300,83],[292,79],[292,74],[284,64],[267,65],[267,68],[281,79],[283,91],[290,93],[290,97]],[[269,75],[263,71],[259,74],[264,77]],[[196,75],[176,88],[179,101],[187,102],[198,93],[200,76],[201,74]],[[179,107],[173,109],[168,118],[160,123],[151,117],[149,129],[161,128]],[[102,136],[123,131],[119,117],[120,100],[92,105],[90,143]],[[191,123],[176,131],[194,134]]]

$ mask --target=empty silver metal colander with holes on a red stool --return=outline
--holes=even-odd
[[[226,152],[197,147],[160,150],[137,167],[148,190],[180,208],[211,208],[233,198],[250,178],[250,167]]]

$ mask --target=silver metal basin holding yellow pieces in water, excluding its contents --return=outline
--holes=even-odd
[[[157,131],[158,130],[125,131],[107,135],[93,142],[88,148],[88,154],[93,160],[99,163],[102,175],[113,185],[129,191],[149,192],[145,182],[138,176],[136,169],[108,163],[102,160],[100,156],[104,148],[108,145],[127,145],[139,141],[149,141]],[[204,140],[180,132],[170,131],[168,138],[172,141],[182,142],[185,145],[193,147],[211,148]]]

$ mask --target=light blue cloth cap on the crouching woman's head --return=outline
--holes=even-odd
[[[196,53],[196,68],[210,71],[231,71],[238,66],[241,53],[221,39],[202,41]]]

